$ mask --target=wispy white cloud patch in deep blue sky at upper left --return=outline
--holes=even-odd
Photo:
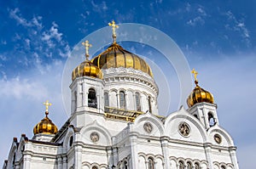
[[[9,17],[22,27],[15,32],[12,38],[14,50],[9,52],[9,58],[15,59],[12,64],[19,66],[37,67],[44,74],[53,56],[55,60],[67,58],[71,54],[68,42],[63,39],[59,25],[52,21],[50,27],[42,24],[43,17],[34,14],[31,20],[22,16],[20,9],[9,9]],[[1,54],[0,54],[1,55]],[[2,54],[2,56],[4,56]],[[5,59],[1,57],[0,59]],[[14,75],[15,76],[15,75]]]

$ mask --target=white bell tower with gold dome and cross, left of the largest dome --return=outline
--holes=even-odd
[[[72,72],[71,114],[84,110],[103,113],[104,100],[100,97],[103,95],[102,70],[89,59],[91,44],[85,41],[82,45],[85,48],[85,60]]]

